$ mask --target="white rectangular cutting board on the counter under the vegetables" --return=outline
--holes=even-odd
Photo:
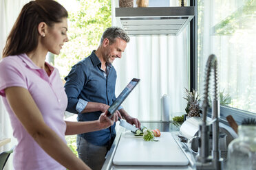
[[[142,136],[123,132],[118,143],[113,163],[115,165],[189,165],[173,136],[161,132],[158,142],[144,141]]]

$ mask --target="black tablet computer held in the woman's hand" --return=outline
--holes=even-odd
[[[134,87],[140,82],[140,79],[133,78],[131,82],[125,87],[124,90],[122,90],[122,93],[116,98],[113,104],[107,109],[107,116],[112,117],[114,112],[118,109],[118,107],[122,104],[122,101],[126,99],[126,97],[131,93],[131,90],[134,89]]]

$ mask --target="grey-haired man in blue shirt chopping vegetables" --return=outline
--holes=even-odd
[[[109,27],[103,33],[100,45],[91,55],[74,66],[65,77],[68,97],[67,111],[78,114],[78,121],[97,120],[115,101],[116,70],[112,66],[122,57],[129,36],[118,27]],[[140,127],[140,121],[129,116],[120,106],[118,115]],[[92,169],[101,169],[105,154],[116,136],[115,123],[105,130],[79,134],[76,142],[78,156]]]

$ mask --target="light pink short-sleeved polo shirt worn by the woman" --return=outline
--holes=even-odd
[[[46,63],[47,64],[47,63]],[[28,134],[19,119],[12,112],[4,89],[19,86],[28,89],[36,105],[39,107],[45,123],[65,141],[66,123],[63,119],[67,107],[67,95],[58,70],[50,64],[51,75],[40,69],[23,53],[8,56],[0,62],[0,95],[8,110],[13,136],[18,145],[14,149],[14,169],[65,169],[50,157]]]

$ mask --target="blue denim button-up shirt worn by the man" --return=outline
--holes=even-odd
[[[70,73],[65,77],[67,111],[78,114],[78,121],[94,121],[102,113],[100,111],[81,113],[87,102],[110,106],[116,99],[116,70],[111,64],[107,65],[107,73],[100,67],[101,62],[93,51],[90,56],[72,66]],[[107,146],[116,136],[115,123],[105,130],[80,135],[93,145]]]

